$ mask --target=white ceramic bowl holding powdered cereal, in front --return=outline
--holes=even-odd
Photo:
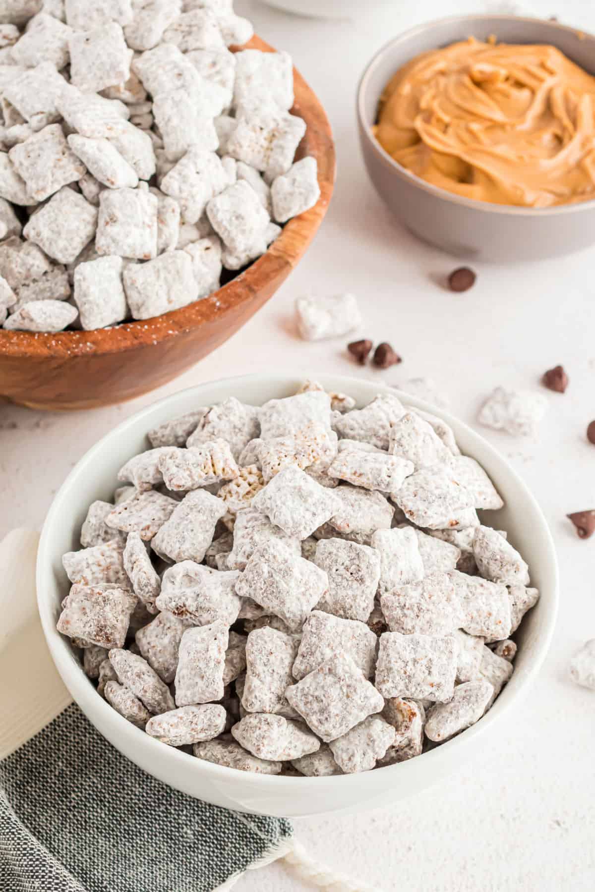
[[[358,378],[334,375],[316,378],[328,390],[350,393],[359,406],[378,392],[394,392]],[[95,499],[112,499],[118,469],[147,447],[145,432],[153,425],[232,395],[252,404],[289,396],[296,392],[302,380],[293,375],[251,375],[201,384],[166,397],[128,418],[96,443],[62,484],[47,515],[37,558],[37,601],[45,639],[62,681],[95,728],[146,772],[190,796],[243,812],[287,816],[355,810],[394,802],[424,789],[458,765],[467,764],[486,739],[498,735],[514,720],[511,713],[518,708],[518,700],[539,672],[547,653],[558,608],[556,552],[546,521],[525,483],[467,425],[423,401],[399,393],[402,401],[414,409],[429,409],[444,418],[452,426],[461,450],[477,458],[492,477],[506,507],[488,512],[488,523],[508,530],[510,539],[529,563],[533,584],[541,590],[541,599],[526,616],[517,636],[515,673],[490,712],[459,737],[409,762],[361,774],[293,778],[238,772],[195,759],[149,737],[108,706],[83,673],[70,641],[55,629],[60,602],[69,589],[62,569],[62,554],[79,548],[80,525],[89,504]]]

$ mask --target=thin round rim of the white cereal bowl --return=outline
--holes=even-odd
[[[461,733],[456,737],[447,740],[445,743],[442,743],[440,747],[434,747],[434,749],[428,750],[426,753],[423,753],[421,756],[417,756],[417,758],[415,759],[411,759],[398,764],[386,765],[382,768],[376,769],[376,771],[393,772],[394,780],[396,778],[396,772],[401,772],[402,777],[403,772],[408,771],[408,766],[411,763],[417,763],[418,758],[426,759],[426,764],[429,769],[430,760],[433,760],[432,764],[439,763],[442,757],[441,754],[445,753],[446,747],[448,747],[449,754],[450,750],[453,747],[459,747],[461,753],[459,761],[462,763],[464,748],[467,750],[470,746],[472,746],[473,741],[475,740],[475,738],[478,737],[478,735],[484,735],[489,728],[492,728],[494,724],[501,725],[502,716],[507,713],[508,706],[511,706],[515,701],[518,702],[519,698],[523,698],[525,696],[525,693],[528,690],[530,684],[534,681],[535,676],[541,669],[541,665],[543,664],[543,661],[550,648],[550,642],[554,633],[558,615],[559,574],[556,549],[551,537],[549,526],[541,512],[541,508],[539,507],[537,501],[534,499],[533,494],[528,489],[522,478],[516,474],[514,468],[512,468],[508,464],[508,461],[500,455],[500,452],[498,450],[496,450],[489,442],[484,440],[480,434],[477,434],[473,430],[473,428],[460,421],[459,418],[450,415],[449,412],[438,409],[437,407],[431,405],[426,401],[419,400],[417,399],[417,397],[410,396],[409,393],[401,392],[398,389],[389,387],[387,385],[376,384],[375,382],[368,379],[362,379],[353,376],[334,375],[333,373],[324,372],[316,374],[310,373],[309,377],[311,380],[320,381],[323,386],[332,386],[333,388],[337,387],[337,382],[340,382],[340,387],[344,392],[349,392],[350,384],[354,387],[361,386],[361,384],[369,385],[371,388],[374,389],[376,393],[392,393],[393,395],[398,396],[404,404],[410,405],[413,409],[422,409],[424,411],[430,412],[436,417],[442,418],[444,421],[447,422],[447,424],[451,425],[455,431],[457,430],[457,428],[463,430],[466,435],[471,436],[471,439],[476,439],[477,441],[481,442],[483,449],[489,452],[492,458],[494,458],[497,462],[505,467],[507,473],[515,479],[515,483],[522,491],[525,500],[527,500],[532,505],[533,510],[541,519],[541,529],[536,529],[535,534],[539,535],[542,538],[544,543],[547,545],[547,549],[550,553],[550,564],[554,571],[554,578],[551,580],[552,605],[550,607],[550,614],[547,623],[545,624],[546,631],[544,634],[542,634],[540,640],[535,645],[535,655],[533,658],[533,663],[529,669],[525,670],[523,683],[519,685],[518,689],[514,692],[511,692],[507,685],[500,694],[499,698],[497,698],[496,704],[492,707],[492,709],[483,716],[480,722],[472,725],[471,728],[468,728],[467,731],[465,731],[464,733]],[[161,398],[161,400],[155,401],[150,405],[145,406],[143,409],[139,409],[139,411],[122,421],[120,425],[113,428],[112,431],[110,431],[108,434],[105,434],[101,438],[101,440],[95,442],[95,445],[87,450],[82,458],[79,459],[77,464],[71,469],[69,475],[66,477],[66,479],[62,483],[62,486],[54,496],[52,505],[50,506],[50,509],[45,518],[45,523],[42,529],[37,550],[37,607],[41,618],[45,640],[50,650],[50,654],[52,655],[52,658],[54,660],[54,664],[58,670],[58,673],[60,673],[62,677],[62,681],[64,682],[67,689],[70,691],[70,694],[72,695],[74,701],[87,715],[89,721],[95,724],[92,718],[92,713],[99,710],[100,714],[103,714],[104,721],[108,724],[111,724],[114,730],[117,729],[122,735],[126,736],[129,736],[131,734],[136,735],[134,739],[136,740],[138,745],[148,747],[148,749],[146,750],[147,752],[153,751],[155,761],[160,761],[161,758],[170,759],[172,760],[172,764],[178,764],[181,768],[185,769],[186,772],[190,771],[196,772],[199,775],[206,775],[209,776],[211,780],[215,781],[218,779],[232,780],[234,778],[237,778],[238,770],[235,768],[227,768],[223,765],[217,765],[211,762],[207,762],[206,760],[197,759],[194,758],[194,756],[188,756],[188,754],[181,750],[162,744],[159,740],[152,738],[150,735],[146,734],[145,731],[136,728],[135,725],[129,723],[125,718],[118,714],[116,710],[113,709],[112,706],[110,706],[97,693],[93,685],[89,683],[87,676],[83,672],[82,666],[79,666],[79,671],[77,673],[72,673],[73,662],[70,640],[57,632],[49,599],[47,599],[46,601],[43,596],[43,592],[45,589],[45,574],[49,572],[50,567],[52,566],[53,558],[48,546],[49,530],[51,529],[52,525],[60,519],[60,516],[62,515],[62,500],[65,499],[66,495],[68,494],[70,484],[76,480],[81,470],[87,467],[87,465],[92,464],[95,455],[98,455],[106,448],[109,448],[109,442],[112,439],[120,438],[123,434],[126,433],[128,427],[136,425],[137,421],[146,418],[148,422],[148,430],[151,426],[149,422],[154,409],[167,405],[169,401],[175,400],[182,394],[200,394],[202,391],[216,385],[220,386],[225,384],[229,389],[229,395],[232,396],[235,392],[235,384],[250,381],[256,383],[259,380],[270,380],[271,378],[273,378],[276,382],[278,381],[280,383],[285,382],[286,384],[294,384],[296,380],[303,380],[304,376],[303,374],[300,374],[300,372],[296,372],[295,374],[278,373],[272,376],[263,375],[261,373],[254,373],[251,375],[219,378],[214,381],[204,382],[202,384],[195,385],[194,387],[188,387],[182,391],[171,393],[169,394],[169,396],[165,396]],[[328,381],[329,383],[325,384],[325,381]],[[200,403],[196,404],[199,405]],[[499,705],[500,708],[497,708]],[[100,733],[102,733],[102,731],[100,731]],[[231,772],[233,772],[233,774]],[[290,792],[292,788],[295,789],[293,785],[299,783],[301,785],[301,789],[305,789],[304,784],[306,784],[310,785],[313,790],[324,790],[326,794],[330,795],[332,791],[337,789],[339,785],[342,787],[342,789],[345,789],[345,787],[350,784],[354,788],[356,788],[361,782],[360,773],[342,774],[331,777],[318,778],[296,778],[285,775],[258,774],[256,772],[241,772],[241,774],[241,780],[244,783],[244,786],[246,783],[249,783],[250,786],[258,787],[260,789],[263,789],[263,791],[266,791],[266,789],[271,787],[274,788],[276,792],[284,789],[287,792]],[[388,774],[385,774],[384,776],[388,779]]]

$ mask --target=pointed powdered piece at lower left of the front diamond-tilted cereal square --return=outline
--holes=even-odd
[[[320,748],[318,738],[303,728],[302,723],[285,719],[282,715],[244,715],[231,733],[253,756],[273,762],[299,759]]]

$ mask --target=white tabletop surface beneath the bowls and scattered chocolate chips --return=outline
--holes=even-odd
[[[543,371],[563,363],[571,383],[563,396],[543,391],[550,409],[538,440],[483,431],[532,487],[558,545],[561,610],[540,681],[500,739],[474,764],[461,765],[458,776],[392,808],[297,822],[297,834],[314,857],[379,890],[580,892],[595,888],[595,693],[567,680],[567,663],[583,640],[595,637],[595,537],[580,541],[565,515],[595,508],[595,446],[584,436],[595,418],[595,247],[538,265],[475,264],[477,283],[464,294],[437,284],[459,262],[404,232],[368,184],[356,138],[355,87],[369,57],[398,31],[485,4],[402,2],[381,12],[366,5],[357,22],[328,22],[236,4],[262,37],[292,52],[326,106],[339,161],[326,222],[260,314],[161,391],[70,415],[0,406],[0,538],[14,526],[43,523],[62,479],[97,438],[147,402],[192,384],[273,367],[304,376],[317,369],[377,376],[391,384],[432,376],[452,409],[473,422],[493,386],[541,389]],[[590,0],[533,0],[532,8],[595,30]],[[293,299],[342,290],[356,293],[364,310],[365,324],[355,335],[390,340],[401,366],[361,370],[342,341],[296,338]],[[236,888],[306,887],[273,865]]]

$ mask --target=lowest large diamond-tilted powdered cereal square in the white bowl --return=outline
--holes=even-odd
[[[285,696],[326,743],[342,737],[384,706],[378,691],[345,654],[326,660],[288,688]]]

